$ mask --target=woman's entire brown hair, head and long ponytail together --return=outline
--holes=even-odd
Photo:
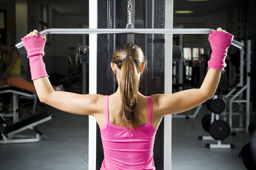
[[[138,117],[136,115],[137,94],[139,90],[138,67],[146,62],[141,47],[135,44],[122,44],[117,47],[112,62],[120,68],[120,81],[118,82],[121,100],[123,103],[122,123],[130,130],[138,130]]]

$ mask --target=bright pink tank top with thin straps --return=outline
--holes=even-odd
[[[153,145],[156,128],[152,124],[152,99],[149,99],[149,123],[139,127],[139,132],[109,122],[108,96],[105,96],[106,123],[100,127],[104,150],[101,170],[108,169],[156,169]]]

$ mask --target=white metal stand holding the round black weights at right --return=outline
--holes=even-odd
[[[213,99],[217,99],[215,95]],[[220,120],[219,114],[211,113],[211,124],[216,121]],[[209,136],[199,136],[199,140],[216,140],[211,135]],[[205,148],[234,148],[234,144],[222,144],[221,140],[216,140],[217,144],[205,144]]]

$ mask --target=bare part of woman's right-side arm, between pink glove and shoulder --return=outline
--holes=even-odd
[[[221,70],[209,68],[201,87],[198,89],[184,90],[173,94],[153,95],[153,111],[162,117],[167,114],[188,111],[199,106],[214,96],[221,72]]]

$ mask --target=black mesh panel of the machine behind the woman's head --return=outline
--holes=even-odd
[[[134,28],[164,28],[165,1],[132,0]],[[116,7],[116,8],[114,8]],[[98,28],[126,28],[127,1],[98,0]],[[133,41],[147,58],[139,91],[146,96],[164,93],[164,34],[98,34],[97,46],[97,93],[115,93],[115,80],[110,62],[115,47]],[[97,127],[97,169],[104,159]],[[164,169],[164,122],[158,128],[154,147],[156,169]]]

